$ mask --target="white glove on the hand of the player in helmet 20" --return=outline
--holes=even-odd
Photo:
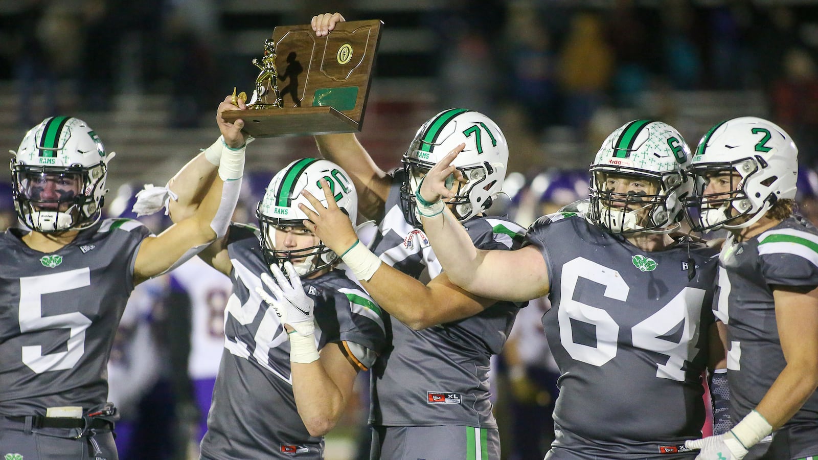
[[[272,275],[276,277],[275,281],[267,273],[261,274],[261,280],[270,289],[272,296],[267,295],[267,292],[260,286],[256,288],[256,291],[258,295],[261,295],[262,300],[276,310],[282,324],[289,324],[302,336],[311,336],[315,331],[312,315],[315,303],[304,292],[301,278],[289,260],[284,263],[284,268],[290,277],[289,280],[284,273],[281,273],[281,268],[276,265],[270,266]]]

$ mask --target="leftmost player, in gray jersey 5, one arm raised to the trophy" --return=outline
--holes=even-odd
[[[83,120],[51,117],[25,134],[11,161],[25,228],[0,235],[0,454],[117,458],[106,362],[119,318],[134,286],[227,232],[245,139],[222,112],[237,109],[218,108],[226,153],[202,204],[158,236],[101,219],[114,153]]]

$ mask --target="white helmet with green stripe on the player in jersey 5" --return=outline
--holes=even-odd
[[[101,217],[108,162],[97,133],[83,120],[55,116],[25,134],[11,178],[17,217],[38,232],[91,227]]]

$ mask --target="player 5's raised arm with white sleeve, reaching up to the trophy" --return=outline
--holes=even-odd
[[[219,106],[218,120],[222,121],[221,114],[225,110],[238,110],[238,107],[230,103],[229,97]],[[240,133],[243,125],[241,120],[236,120],[235,125],[219,124],[222,136],[230,143],[226,143],[227,151],[222,151],[218,174],[215,174],[204,198],[195,206],[190,216],[179,219],[177,215],[175,218],[177,222],[170,228],[159,236],[148,237],[142,242],[134,267],[135,282],[142,282],[182,264],[213,241],[223,241],[233,210],[236,209],[241,187],[240,179],[244,171],[244,148],[236,148],[244,145],[244,137]],[[201,163],[197,162],[195,165],[198,168]],[[182,174],[182,178],[184,176],[185,174]],[[191,176],[191,180],[194,181],[191,183],[193,188],[204,183],[195,176]],[[218,252],[220,248],[215,249]]]

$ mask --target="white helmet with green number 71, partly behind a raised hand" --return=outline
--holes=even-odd
[[[500,128],[488,116],[474,110],[443,110],[420,126],[403,154],[406,177],[401,187],[401,205],[408,223],[420,226],[415,201],[420,179],[461,143],[465,143],[465,148],[452,165],[468,182],[461,183],[456,196],[448,201],[456,218],[465,222],[488,209],[494,196],[501,192],[509,147]]]

